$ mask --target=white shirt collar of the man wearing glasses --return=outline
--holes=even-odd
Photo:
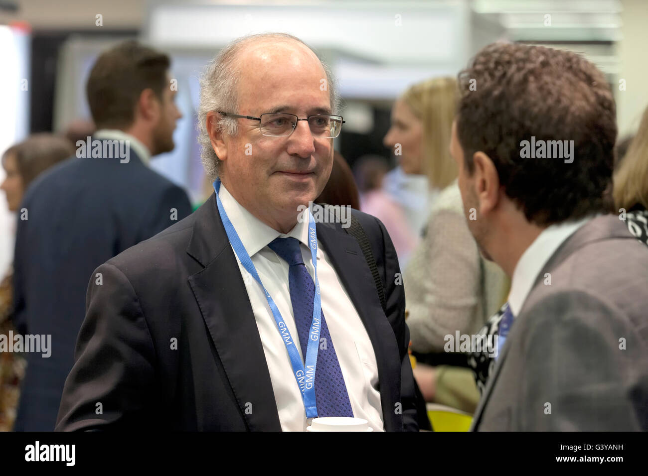
[[[250,258],[268,246],[272,240],[279,237],[295,238],[308,247],[308,220],[301,220],[308,209],[299,215],[300,220],[297,220],[295,227],[284,234],[266,225],[266,223],[251,214],[243,205],[238,203],[222,183],[218,190],[218,197],[227,213],[227,218],[232,222],[234,229],[238,233],[238,238],[240,238]],[[319,247],[317,257],[318,259],[321,258]]]

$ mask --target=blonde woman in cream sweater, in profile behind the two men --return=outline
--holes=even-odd
[[[457,99],[455,78],[412,85],[395,103],[384,139],[400,150],[404,172],[427,176],[430,188],[441,189],[403,275],[411,350],[420,354],[443,354],[445,336],[454,339],[457,331],[476,334],[508,291],[502,269],[480,255],[463,214],[449,152]],[[428,402],[474,411],[479,392],[470,368],[418,365],[414,375]]]

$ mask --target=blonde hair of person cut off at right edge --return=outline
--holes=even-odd
[[[612,196],[617,209],[630,210],[638,204],[648,209],[648,108],[643,112],[628,152],[614,172]]]

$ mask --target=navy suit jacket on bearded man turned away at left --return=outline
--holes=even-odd
[[[93,269],[191,213],[187,194],[141,162],[72,157],[29,187],[14,258],[14,323],[51,334],[51,357],[27,354],[14,429],[52,431],[74,363]],[[93,278],[93,282],[94,282]]]

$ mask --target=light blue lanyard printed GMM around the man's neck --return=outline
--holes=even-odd
[[[319,280],[318,280],[318,235],[315,229],[315,220],[313,218],[310,209],[308,210],[308,243],[310,244],[310,255],[313,261],[313,267],[315,269],[315,297],[313,300],[313,319],[310,323],[310,332],[308,333],[308,345],[306,350],[306,365],[301,361],[299,356],[299,351],[295,346],[295,341],[290,335],[288,326],[281,317],[281,313],[275,304],[275,301],[268,293],[268,290],[263,286],[261,279],[259,278],[259,273],[257,273],[257,268],[255,268],[252,263],[251,258],[248,255],[244,245],[242,244],[240,238],[238,238],[238,233],[232,225],[232,222],[229,221],[229,217],[225,212],[220,197],[218,196],[218,190],[220,190],[220,180],[216,179],[214,181],[214,191],[216,192],[216,203],[218,205],[218,212],[220,213],[220,219],[223,222],[225,227],[225,232],[227,233],[227,238],[229,238],[229,243],[234,248],[235,253],[238,256],[238,260],[241,262],[243,267],[250,273],[255,280],[259,283],[259,286],[263,288],[263,292],[266,295],[268,300],[268,305],[272,310],[272,315],[275,318],[275,323],[277,324],[277,330],[279,330],[279,335],[286,345],[286,350],[288,350],[288,356],[290,357],[290,363],[292,364],[292,371],[295,374],[295,380],[297,385],[299,385],[299,391],[301,391],[301,398],[304,400],[304,407],[306,408],[307,418],[315,418],[318,416],[318,408],[315,400],[315,369],[318,360],[318,348],[319,348],[319,331],[321,330],[321,295],[319,294]]]

